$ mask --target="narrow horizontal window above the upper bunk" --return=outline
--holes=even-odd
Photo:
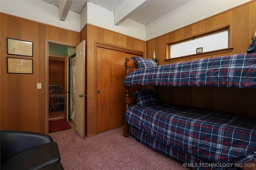
[[[170,58],[228,48],[228,28],[170,44]],[[202,50],[201,50],[202,48]],[[197,50],[198,49],[198,50]]]

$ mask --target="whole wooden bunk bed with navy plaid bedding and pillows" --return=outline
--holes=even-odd
[[[256,38],[248,51],[158,66],[126,58],[124,137],[177,158],[194,170],[256,169],[256,117],[166,104],[152,89],[131,86],[256,88]],[[130,68],[136,68],[130,72]]]

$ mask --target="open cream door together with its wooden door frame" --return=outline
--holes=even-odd
[[[74,129],[79,133],[79,135],[84,139],[85,138],[85,117],[86,117],[86,106],[87,106],[87,94],[86,94],[86,56],[85,56],[85,40],[83,40],[78,45],[70,44],[70,43],[62,43],[59,41],[45,39],[45,94],[44,94],[44,101],[45,101],[45,133],[49,134],[49,44],[60,45],[64,47],[71,47],[75,48],[77,51],[76,57],[73,60],[76,60],[76,66],[74,70],[76,70],[75,74],[75,85],[73,86],[74,92],[74,106],[75,111],[73,111],[72,116],[75,120],[75,127]],[[68,57],[65,57],[67,59]],[[66,61],[66,60],[65,60]],[[67,62],[68,63],[68,62]],[[66,76],[67,77],[67,76]]]

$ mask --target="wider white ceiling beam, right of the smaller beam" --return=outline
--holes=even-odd
[[[132,3],[130,1],[124,1],[116,10],[114,10],[115,25],[119,25],[126,19],[128,19],[132,14],[142,9],[152,0],[134,0]]]

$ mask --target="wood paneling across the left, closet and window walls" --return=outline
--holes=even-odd
[[[48,63],[45,59],[45,39],[74,45],[78,45],[83,39],[86,40],[86,84],[88,85],[86,86],[88,95],[86,100],[86,136],[90,137],[96,133],[95,45],[97,42],[130,50],[146,50],[147,58],[152,58],[153,51],[155,51],[156,57],[160,59],[159,64],[166,64],[171,63],[171,61],[164,61],[166,59],[166,43],[230,25],[230,31],[232,31],[230,43],[234,49],[231,53],[221,55],[242,53],[246,51],[250,35],[256,25],[255,8],[256,2],[247,3],[239,8],[146,41],[146,45],[144,41],[139,39],[90,24],[87,24],[78,33],[0,13],[0,128],[48,133],[48,127],[45,127],[45,95],[48,94],[45,90],[45,87],[48,86],[48,82],[45,82],[45,76],[48,74],[48,66],[46,66]],[[34,56],[7,55],[7,37],[32,41]],[[6,57],[33,59],[34,74],[8,74]],[[37,83],[42,83],[42,89],[36,88]],[[250,104],[253,94],[256,94],[254,89],[242,89],[243,92],[240,92],[240,89],[235,88],[210,88],[210,90],[203,88],[203,90],[198,90],[198,88],[188,87],[186,89],[172,88],[169,91],[170,96],[175,96],[174,103],[179,101],[180,104],[192,103],[198,107],[224,107],[224,110],[228,111],[244,110],[243,108],[246,107],[248,113],[254,112],[252,111],[254,108]],[[165,96],[166,94],[162,95],[162,100],[166,99]],[[208,98],[211,100],[206,100]],[[236,105],[235,103],[240,104]]]

